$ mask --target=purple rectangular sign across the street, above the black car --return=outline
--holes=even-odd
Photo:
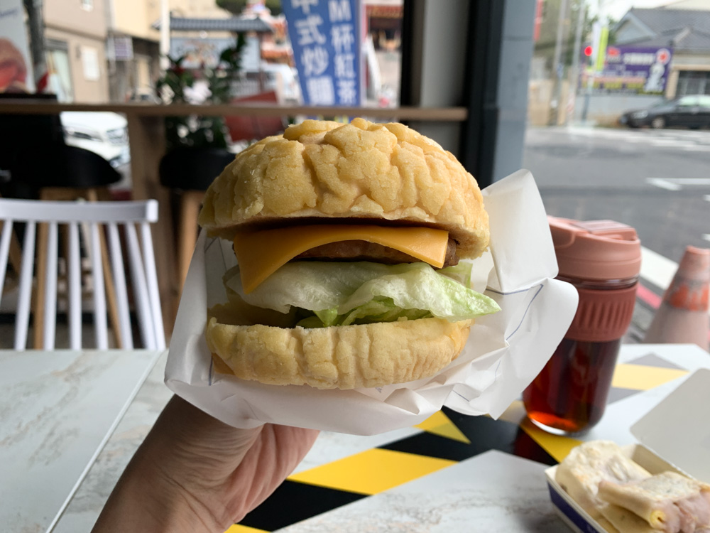
[[[601,73],[605,82],[595,82],[594,87],[603,92],[662,95],[672,56],[672,49],[665,47],[607,46]]]

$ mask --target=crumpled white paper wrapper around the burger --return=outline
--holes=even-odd
[[[477,318],[461,355],[438,375],[347,391],[279,387],[215,372],[204,340],[207,308],[226,301],[222,274],[236,257],[231,242],[202,232],[182,291],[165,383],[239,428],[271,422],[373,435],[420,424],[444,405],[464,414],[500,416],[567,332],[577,291],[553,279],[555,250],[530,172],[518,171],[487,187],[484,202],[491,250],[474,262],[474,276],[480,278],[474,289],[483,291],[487,284],[486,294],[503,311]]]

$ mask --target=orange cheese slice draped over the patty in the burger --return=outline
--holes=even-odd
[[[360,240],[404,252],[436,268],[444,266],[449,232],[430,227],[309,225],[239,232],[234,253],[241,284],[249,294],[298,254],[332,242]]]

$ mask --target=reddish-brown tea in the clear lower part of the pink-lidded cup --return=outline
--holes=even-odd
[[[530,420],[556,434],[591,429],[604,414],[621,339],[563,339],[547,365],[523,392]]]

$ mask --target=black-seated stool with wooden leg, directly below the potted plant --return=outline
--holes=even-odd
[[[197,242],[197,213],[204,191],[232,161],[234,154],[221,148],[175,149],[160,160],[160,183],[178,195],[180,202],[178,269],[181,290]]]

